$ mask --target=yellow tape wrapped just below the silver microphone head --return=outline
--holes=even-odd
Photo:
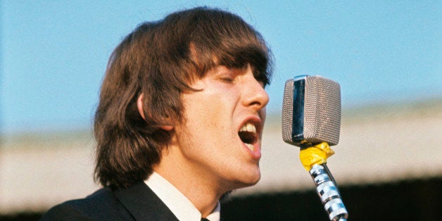
[[[305,170],[310,171],[313,165],[327,163],[327,158],[334,154],[329,144],[322,142],[315,146],[303,148],[299,152],[299,158]]]

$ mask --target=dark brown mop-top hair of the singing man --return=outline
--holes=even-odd
[[[159,163],[167,122],[182,122],[183,91],[217,65],[245,68],[270,82],[271,56],[263,37],[239,16],[193,8],[143,23],[110,56],[96,110],[95,178],[103,186],[128,187]],[[137,99],[144,95],[144,115]]]

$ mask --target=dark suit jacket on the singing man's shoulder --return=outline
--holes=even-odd
[[[103,188],[86,198],[51,208],[41,220],[178,220],[144,183],[115,191]]]

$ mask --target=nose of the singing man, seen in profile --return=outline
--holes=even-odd
[[[265,91],[262,82],[253,77],[253,75],[248,79],[246,87],[244,87],[244,105],[253,106],[257,110],[264,108],[267,103],[269,103],[269,95]]]

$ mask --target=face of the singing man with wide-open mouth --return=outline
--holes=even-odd
[[[176,142],[187,172],[229,191],[260,179],[261,135],[269,101],[251,71],[217,66],[182,94]]]

